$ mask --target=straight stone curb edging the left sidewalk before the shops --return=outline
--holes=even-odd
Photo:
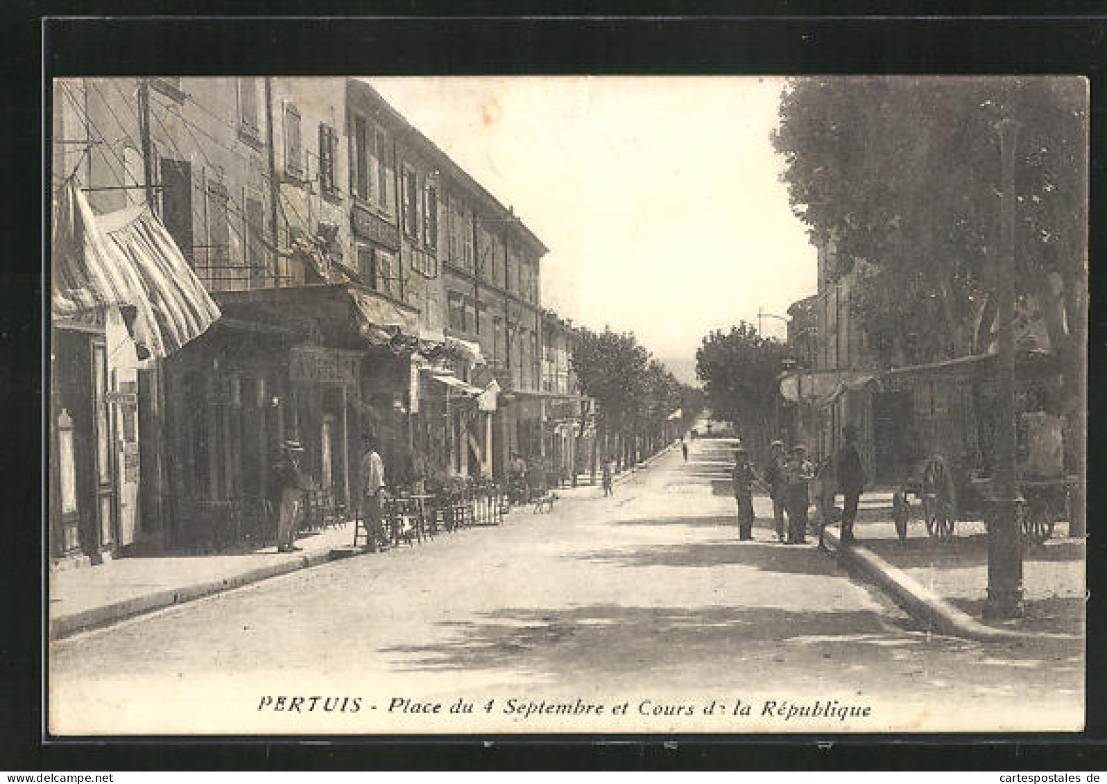
[[[103,626],[111,626],[112,624],[117,624],[121,620],[126,620],[127,618],[133,618],[137,615],[165,609],[166,607],[173,607],[174,605],[184,604],[185,602],[193,602],[194,599],[200,599],[205,596],[213,596],[225,590],[249,585],[250,583],[258,583],[262,579],[268,579],[269,577],[278,577],[282,574],[298,572],[311,566],[319,566],[320,564],[328,563],[329,561],[331,561],[330,551],[320,551],[318,553],[302,555],[294,560],[282,561],[268,566],[259,566],[250,569],[249,572],[236,574],[230,577],[213,579],[206,583],[196,583],[194,585],[186,585],[179,588],[165,588],[164,590],[158,590],[153,594],[135,596],[130,599],[124,599],[123,602],[114,602],[108,605],[103,605],[102,607],[93,607],[80,613],[73,613],[72,615],[53,618],[50,621],[50,639],[59,640],[65,637],[71,637],[80,631],[87,631]]]

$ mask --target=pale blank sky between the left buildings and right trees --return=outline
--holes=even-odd
[[[368,81],[550,249],[544,304],[633,331],[682,380],[708,331],[815,292],[768,140],[780,79]]]

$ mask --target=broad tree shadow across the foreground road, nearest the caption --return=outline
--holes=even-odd
[[[447,639],[381,650],[399,657],[394,666],[405,670],[513,670],[566,681],[581,672],[590,679],[640,677],[643,670],[666,668],[691,673],[697,666],[718,667],[720,658],[735,662],[731,675],[749,677],[753,683],[785,661],[816,680],[827,677],[824,668],[846,662],[884,668],[894,681],[904,661],[919,662],[937,675],[945,670],[945,657],[969,650],[985,657],[994,651],[1002,661],[993,663],[1024,671],[1044,673],[1048,668],[1075,677],[1083,670],[1079,651],[1064,642],[1021,647],[892,631],[870,610],[604,604],[506,608],[439,627],[449,634]],[[955,660],[951,657],[949,666],[956,667]],[[792,672],[794,680],[797,672]]]

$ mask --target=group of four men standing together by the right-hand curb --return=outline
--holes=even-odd
[[[857,505],[866,481],[861,454],[857,449],[857,432],[856,426],[847,425],[842,430],[845,442],[838,450],[837,459],[821,462],[818,469],[807,459],[807,448],[803,445],[793,446],[786,453],[784,441],[773,441],[764,475],[758,475],[739,442],[734,450],[731,477],[734,499],[738,504],[738,539],[754,537],[753,485],[759,483],[773,500],[777,539],[784,544],[804,544],[807,541],[810,488],[817,483],[819,546],[824,546],[823,526],[829,521],[838,492],[842,494],[841,543],[852,543]]]

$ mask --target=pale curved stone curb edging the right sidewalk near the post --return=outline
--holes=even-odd
[[[842,550],[838,534],[831,529],[826,530],[825,540],[834,547],[835,554],[856,566],[911,617],[937,634],[964,637],[979,642],[1025,641],[1045,636],[985,626],[868,547],[853,544]]]

